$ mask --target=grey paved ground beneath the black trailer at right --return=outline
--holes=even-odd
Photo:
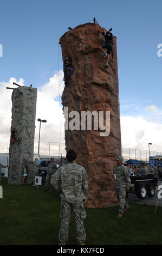
[[[160,185],[160,182],[159,182],[159,185]],[[144,200],[139,199],[136,196],[136,194],[128,193],[128,200],[139,203],[139,204],[147,204],[147,205],[154,205],[154,206],[156,206],[157,202],[158,202],[158,206],[162,207],[162,198],[159,199],[159,201],[158,201],[157,190],[156,190],[155,196],[153,198],[146,197],[146,199],[144,199]]]

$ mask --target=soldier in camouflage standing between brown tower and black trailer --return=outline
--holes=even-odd
[[[117,165],[115,166],[113,172],[115,194],[119,200],[119,214],[117,216],[118,218],[122,217],[125,207],[126,211],[130,208],[130,206],[127,204],[126,190],[129,190],[129,187],[131,185],[131,179],[129,177],[127,168],[122,165],[122,161],[122,157],[116,157]]]

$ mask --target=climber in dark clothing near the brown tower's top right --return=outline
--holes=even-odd
[[[112,28],[110,28],[109,31],[106,33],[105,33],[105,31],[101,31],[101,29],[100,29],[101,34],[105,36],[105,40],[106,40],[105,44],[100,46],[100,49],[104,53],[102,58],[107,57],[107,62],[106,62],[105,68],[108,68],[109,54],[111,54],[111,52],[113,51],[113,34],[111,33],[111,31],[112,31]],[[107,53],[104,49],[107,49]]]

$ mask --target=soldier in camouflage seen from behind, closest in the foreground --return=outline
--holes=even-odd
[[[73,211],[76,227],[76,241],[85,245],[86,232],[83,221],[86,218],[84,203],[88,196],[88,176],[85,168],[76,164],[74,150],[67,152],[68,164],[57,169],[51,179],[51,184],[61,197],[61,228],[59,245],[66,245],[68,240],[70,213]]]

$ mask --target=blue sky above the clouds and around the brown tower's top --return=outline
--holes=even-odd
[[[162,57],[157,55],[162,44],[161,10],[160,0],[1,1],[0,82],[15,77],[37,88],[47,83],[62,69],[58,42],[67,27],[96,17],[100,26],[113,27],[117,37],[121,115],[142,115],[162,124]]]

